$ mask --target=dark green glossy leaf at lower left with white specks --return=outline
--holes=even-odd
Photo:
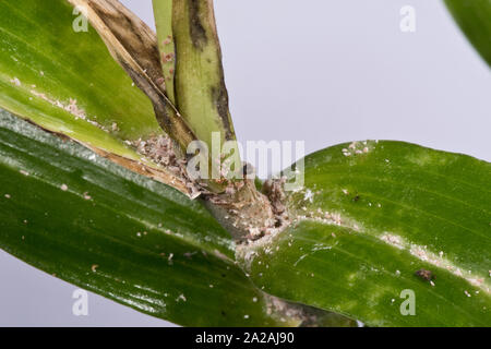
[[[3,111],[0,248],[177,324],[291,324],[266,314],[271,298],[199,202]]]

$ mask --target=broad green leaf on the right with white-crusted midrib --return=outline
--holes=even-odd
[[[241,248],[259,287],[370,326],[491,324],[489,163],[355,142],[304,164],[306,188],[289,195],[290,226]],[[400,312],[408,289],[416,315]]]

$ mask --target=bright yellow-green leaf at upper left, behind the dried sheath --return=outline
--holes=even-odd
[[[75,32],[85,19],[73,13],[65,0],[0,2],[0,107],[89,147],[141,160],[122,141],[161,134],[152,104],[94,28]]]

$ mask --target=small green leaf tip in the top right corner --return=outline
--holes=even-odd
[[[491,1],[445,0],[445,3],[470,43],[491,65]]]

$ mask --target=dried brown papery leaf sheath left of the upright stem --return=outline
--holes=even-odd
[[[117,0],[68,0],[88,17],[109,52],[151,98],[160,127],[181,147],[195,140],[165,93],[155,33]]]

